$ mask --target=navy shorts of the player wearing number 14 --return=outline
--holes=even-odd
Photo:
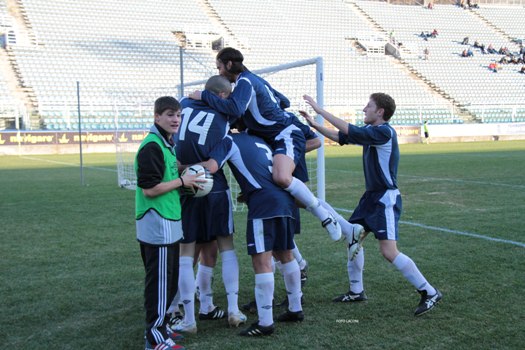
[[[182,197],[180,243],[206,243],[234,232],[230,190],[211,192],[204,197]]]

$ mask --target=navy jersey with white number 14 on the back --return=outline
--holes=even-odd
[[[228,119],[202,101],[183,98],[180,101],[182,121],[177,135],[177,159],[192,165],[210,158],[211,150],[227,135]],[[212,191],[228,188],[222,169],[213,174]]]

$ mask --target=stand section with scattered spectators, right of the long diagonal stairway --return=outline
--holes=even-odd
[[[517,74],[518,67],[521,66],[507,65],[494,74],[488,69],[488,65],[499,61],[504,55],[483,54],[480,49],[472,47],[478,41],[486,47],[489,44],[497,49],[508,47],[517,54],[518,45],[511,42],[505,33],[487,25],[475,12],[451,5],[435,5],[433,10],[373,1],[356,1],[356,5],[382,28],[394,31],[395,40],[408,47],[406,57],[402,55],[402,59],[409,67],[437,89],[445,91],[473,116],[481,117],[480,108],[472,106],[488,103],[496,105],[491,111],[501,114],[501,121],[510,121],[512,116],[508,115],[509,109],[499,106],[523,104],[525,85],[523,75]],[[521,23],[524,30],[525,17],[519,16],[520,11],[512,15],[505,12],[514,23]],[[438,31],[436,38],[424,40],[420,37],[421,32],[431,32],[434,29]],[[465,37],[469,37],[469,45],[461,44]],[[414,48],[415,52],[411,52]],[[430,52],[427,60],[421,59],[424,48],[428,48]],[[461,52],[467,48],[473,50],[473,57],[461,57]],[[494,118],[495,121],[497,119]]]

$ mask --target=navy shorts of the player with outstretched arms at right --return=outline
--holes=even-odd
[[[348,221],[362,225],[379,240],[397,241],[402,210],[399,190],[366,191]]]

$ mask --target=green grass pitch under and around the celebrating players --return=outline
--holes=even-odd
[[[326,197],[349,216],[364,191],[358,147],[326,150]],[[0,348],[143,349],[143,267],[134,193],[117,186],[115,155],[1,156]],[[402,145],[404,213],[399,248],[440,288],[442,302],[415,318],[419,295],[365,242],[369,300],[335,304],[348,290],[346,249],[303,213],[296,241],[310,265],[306,319],[245,339],[226,321],[200,322],[187,349],[525,348],[525,142]],[[253,297],[235,215],[239,302]],[[226,307],[220,268],[215,303]],[[276,274],[276,298],[285,296]],[[280,312],[276,308],[275,313]],[[248,315],[248,322],[256,320]]]

